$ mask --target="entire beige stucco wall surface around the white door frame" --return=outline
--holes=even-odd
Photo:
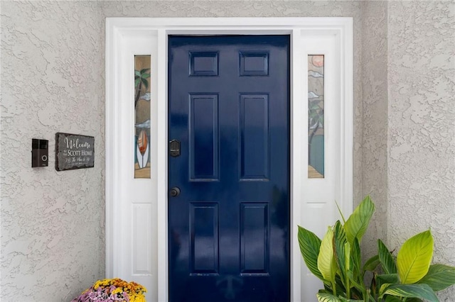
[[[0,16],[3,301],[68,301],[104,275],[105,18],[114,16],[353,17],[354,203],[372,194],[377,206],[364,257],[378,237],[395,247],[431,227],[435,259],[454,264],[450,2],[1,1]],[[55,172],[58,131],[95,136],[95,168]],[[50,167],[30,168],[31,138],[49,140]]]

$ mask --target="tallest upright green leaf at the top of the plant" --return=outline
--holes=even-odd
[[[374,211],[375,204],[371,201],[370,196],[366,196],[349,216],[344,225],[344,229],[346,230],[346,237],[348,238],[350,245],[353,244],[354,238],[357,238],[359,243],[362,242],[363,234],[365,234],[368,228]]]

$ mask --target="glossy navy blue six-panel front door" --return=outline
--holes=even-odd
[[[170,36],[170,302],[289,302],[289,35]]]

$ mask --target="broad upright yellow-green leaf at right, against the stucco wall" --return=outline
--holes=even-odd
[[[414,284],[428,272],[433,257],[433,236],[427,230],[403,243],[397,255],[398,274],[402,284]]]

